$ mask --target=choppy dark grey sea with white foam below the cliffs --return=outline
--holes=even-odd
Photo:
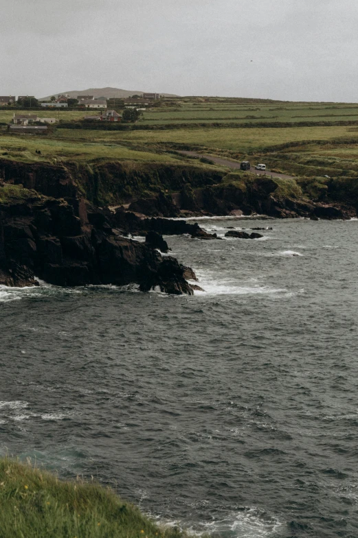
[[[0,288],[0,453],[225,537],[358,536],[358,222],[200,220],[193,297]]]

